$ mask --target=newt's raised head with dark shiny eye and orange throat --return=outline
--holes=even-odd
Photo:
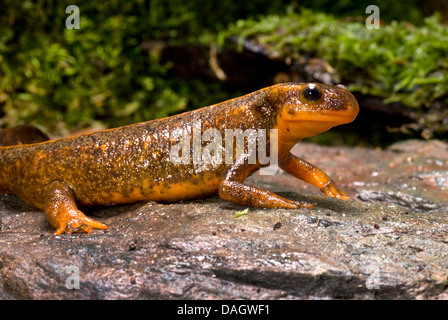
[[[283,139],[295,142],[352,122],[359,111],[355,97],[343,85],[285,83],[273,86],[269,95],[281,108],[275,127]]]

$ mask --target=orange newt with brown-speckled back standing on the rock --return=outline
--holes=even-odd
[[[263,129],[266,154],[273,155],[270,146],[276,146],[280,168],[329,197],[348,199],[326,173],[290,150],[303,138],[353,121],[358,111],[355,97],[343,85],[277,84],[163,119],[0,147],[0,192],[43,210],[55,235],[107,229],[79,209],[94,205],[169,203],[219,194],[243,206],[312,209],[313,204],[245,184],[247,177],[269,163],[249,161],[247,152],[236,153],[233,142],[230,163],[201,159],[179,163],[173,161],[172,150],[198,123],[201,134],[208,129],[223,136],[229,129]],[[218,150],[224,152],[224,139],[222,144]],[[206,145],[201,140],[201,146]],[[190,152],[194,157],[193,149],[186,148],[182,155]]]

